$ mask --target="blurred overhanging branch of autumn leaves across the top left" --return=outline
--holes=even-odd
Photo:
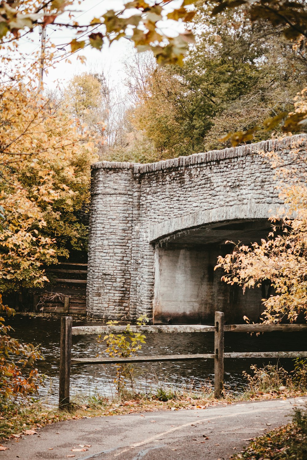
[[[132,40],[138,51],[152,50],[159,64],[182,63],[188,44],[193,42],[189,31],[172,37],[162,33],[160,22],[164,19],[191,21],[194,11],[186,9],[193,1],[181,0],[173,11],[167,13],[165,6],[172,0],[134,0],[126,2],[121,11],[109,10],[104,14],[96,11],[96,17],[86,24],[76,20],[61,22],[63,12],[72,11],[73,0],[23,0],[13,2],[2,0],[0,3],[0,39],[4,42],[18,39],[21,31],[24,34],[35,26],[55,24],[76,32],[70,41],[71,51],[75,52],[85,46],[101,49],[104,43],[111,44],[114,40],[126,37]],[[100,28],[99,31],[97,29]],[[85,32],[84,32],[85,31]],[[78,40],[78,33],[83,32],[85,39]]]

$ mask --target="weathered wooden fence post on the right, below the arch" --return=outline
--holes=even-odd
[[[216,311],[214,322],[214,397],[220,398],[224,382],[224,313]]]

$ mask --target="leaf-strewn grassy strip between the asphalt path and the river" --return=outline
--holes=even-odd
[[[128,396],[128,395],[127,395]],[[23,437],[35,434],[37,428],[57,423],[63,420],[77,420],[89,417],[133,414],[139,412],[155,412],[157,410],[182,410],[228,405],[240,401],[262,401],[272,399],[287,399],[289,397],[307,396],[307,391],[287,390],[278,391],[249,391],[240,395],[226,393],[225,397],[215,399],[211,394],[182,391],[174,394],[165,390],[165,395],[130,395],[127,399],[109,400],[105,397],[91,397],[72,403],[70,410],[58,410],[44,406],[42,403],[26,403],[14,405],[0,411],[0,440],[13,437]],[[158,398],[169,397],[167,401]]]

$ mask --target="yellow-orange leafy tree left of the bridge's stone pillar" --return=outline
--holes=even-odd
[[[72,216],[88,194],[89,174],[85,180],[84,170],[89,169],[93,149],[89,134],[78,131],[78,123],[63,113],[51,113],[43,98],[38,103],[30,85],[21,81],[3,84],[0,93],[2,292],[43,285],[48,279],[42,265],[57,261],[58,255],[67,255],[61,244],[57,247],[54,237],[77,238],[79,224]],[[63,211],[66,222],[61,220]]]

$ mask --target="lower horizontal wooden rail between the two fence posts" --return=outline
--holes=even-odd
[[[191,359],[211,359],[215,355],[211,353],[195,355],[162,355],[162,356],[131,356],[122,357],[100,357],[100,358],[75,358],[71,364],[117,364],[120,362],[160,362],[160,361],[189,361]]]

